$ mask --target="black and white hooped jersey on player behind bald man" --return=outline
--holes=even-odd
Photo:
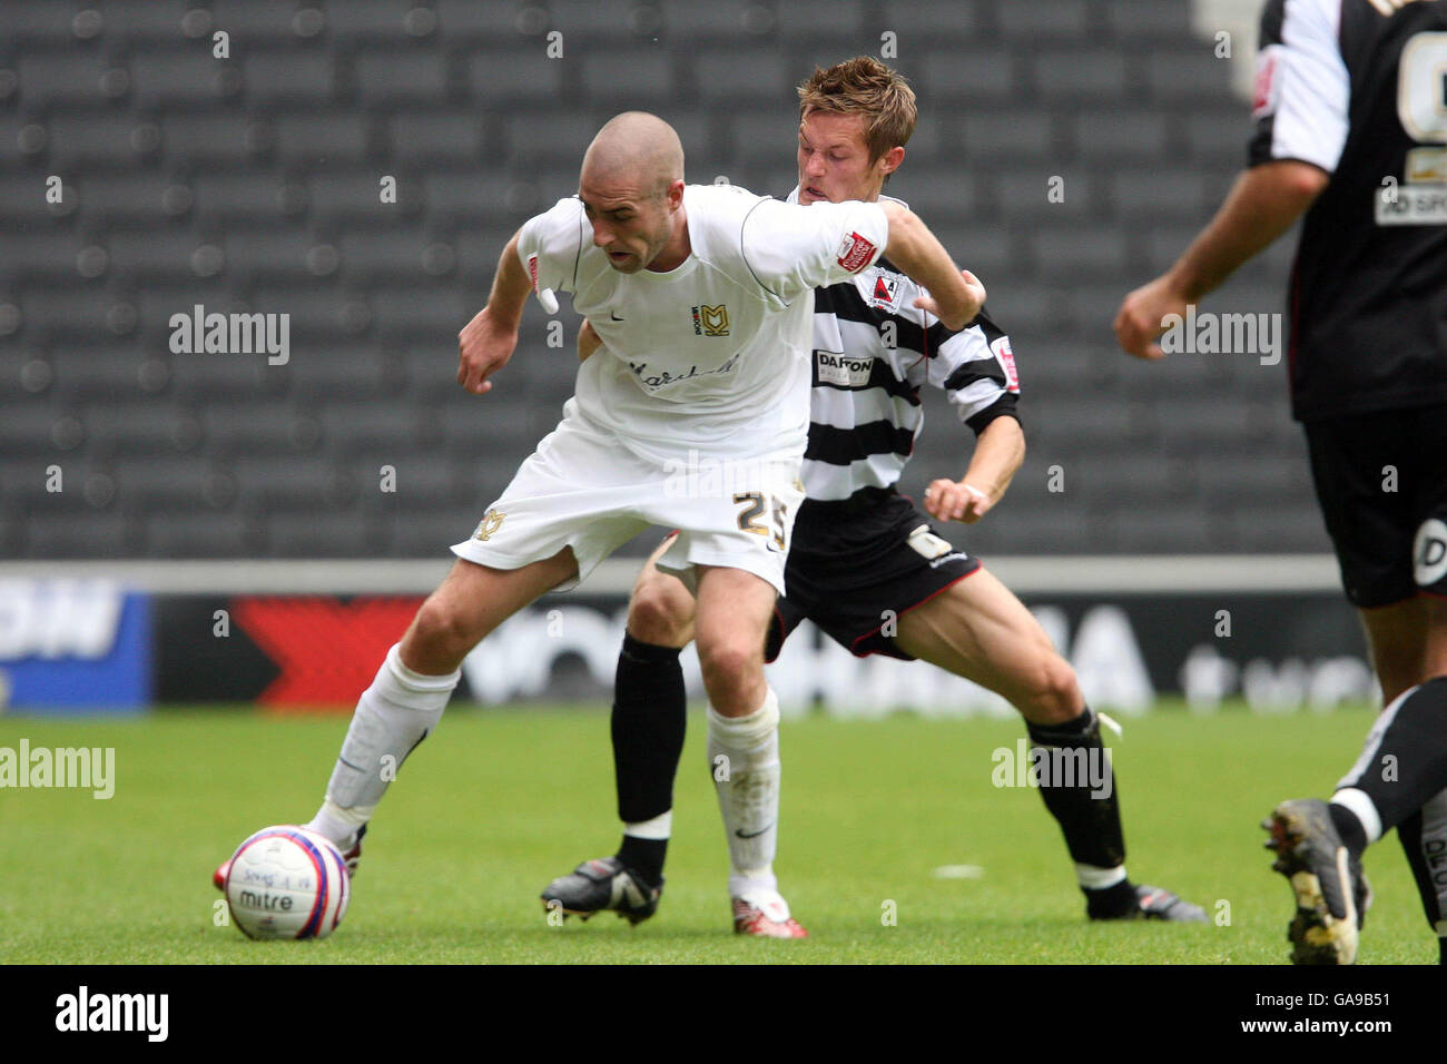
[[[802,473],[810,499],[893,486],[925,423],[926,384],[941,388],[975,433],[996,417],[1016,417],[1020,381],[1010,337],[984,313],[952,332],[913,305],[919,294],[884,258],[849,281],[815,290],[813,397]]]

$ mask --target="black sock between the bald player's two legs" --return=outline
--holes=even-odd
[[[651,821],[673,808],[673,777],[683,756],[686,727],[687,695],[677,649],[624,636],[612,715],[614,779],[624,824]],[[625,837],[618,856],[657,883],[667,847],[667,840]],[[624,850],[638,863],[625,857]]]

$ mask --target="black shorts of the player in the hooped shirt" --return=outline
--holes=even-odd
[[[806,617],[857,657],[913,659],[884,634],[887,622],[980,569],[980,560],[936,536],[903,495],[864,488],[838,502],[806,501],[794,521],[764,649],[773,662]],[[891,625],[893,628],[893,625]]]

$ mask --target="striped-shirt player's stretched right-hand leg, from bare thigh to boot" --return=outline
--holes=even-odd
[[[1040,786],[1040,798],[1065,835],[1091,918],[1205,919],[1198,906],[1169,890],[1136,886],[1126,877],[1116,776],[1098,718],[1085,705],[1075,670],[993,573],[980,569],[901,614],[894,643],[913,657],[1006,698],[1024,717],[1036,748],[1084,750],[1091,766],[1084,774],[1094,782],[1077,777],[1074,786],[1064,786],[1064,780],[1052,779]]]

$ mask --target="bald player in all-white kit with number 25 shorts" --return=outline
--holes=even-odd
[[[628,111],[599,130],[577,195],[508,242],[488,305],[459,334],[457,382],[492,389],[530,292],[572,292],[605,356],[582,363],[557,428],[453,546],[459,560],[362,692],[326,801],[305,825],[337,844],[349,870],[467,653],[650,525],[679,530],[658,565],[696,588],[721,750],[741,767],[776,756],[778,704],[763,647],[803,498],[813,290],[886,250],[930,292],[917,305],[949,327],[984,304],[978,282],[899,204],[800,207],[684,185],[683,148],[661,119]],[[680,469],[705,459],[732,475],[718,491],[679,492]],[[227,864],[214,877],[223,889]]]

